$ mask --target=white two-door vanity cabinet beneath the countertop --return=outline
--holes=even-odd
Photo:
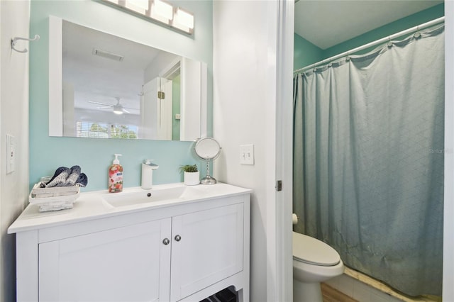
[[[248,301],[249,202],[246,192],[10,232],[17,301],[201,301],[228,286]]]

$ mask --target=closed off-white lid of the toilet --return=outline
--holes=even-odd
[[[293,258],[309,264],[331,267],[341,261],[338,252],[314,237],[293,232]]]

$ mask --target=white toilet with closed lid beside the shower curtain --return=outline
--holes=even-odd
[[[293,232],[293,301],[323,302],[320,282],[343,274],[338,252],[314,237]]]

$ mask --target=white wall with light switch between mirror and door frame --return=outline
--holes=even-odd
[[[214,1],[213,136],[222,147],[218,181],[254,190],[251,198],[250,301],[267,301],[266,150],[274,150],[267,113],[267,10],[263,1]],[[239,164],[240,145],[254,144],[255,165]]]

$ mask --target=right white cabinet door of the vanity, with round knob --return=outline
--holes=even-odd
[[[172,218],[170,301],[243,269],[243,203]]]

